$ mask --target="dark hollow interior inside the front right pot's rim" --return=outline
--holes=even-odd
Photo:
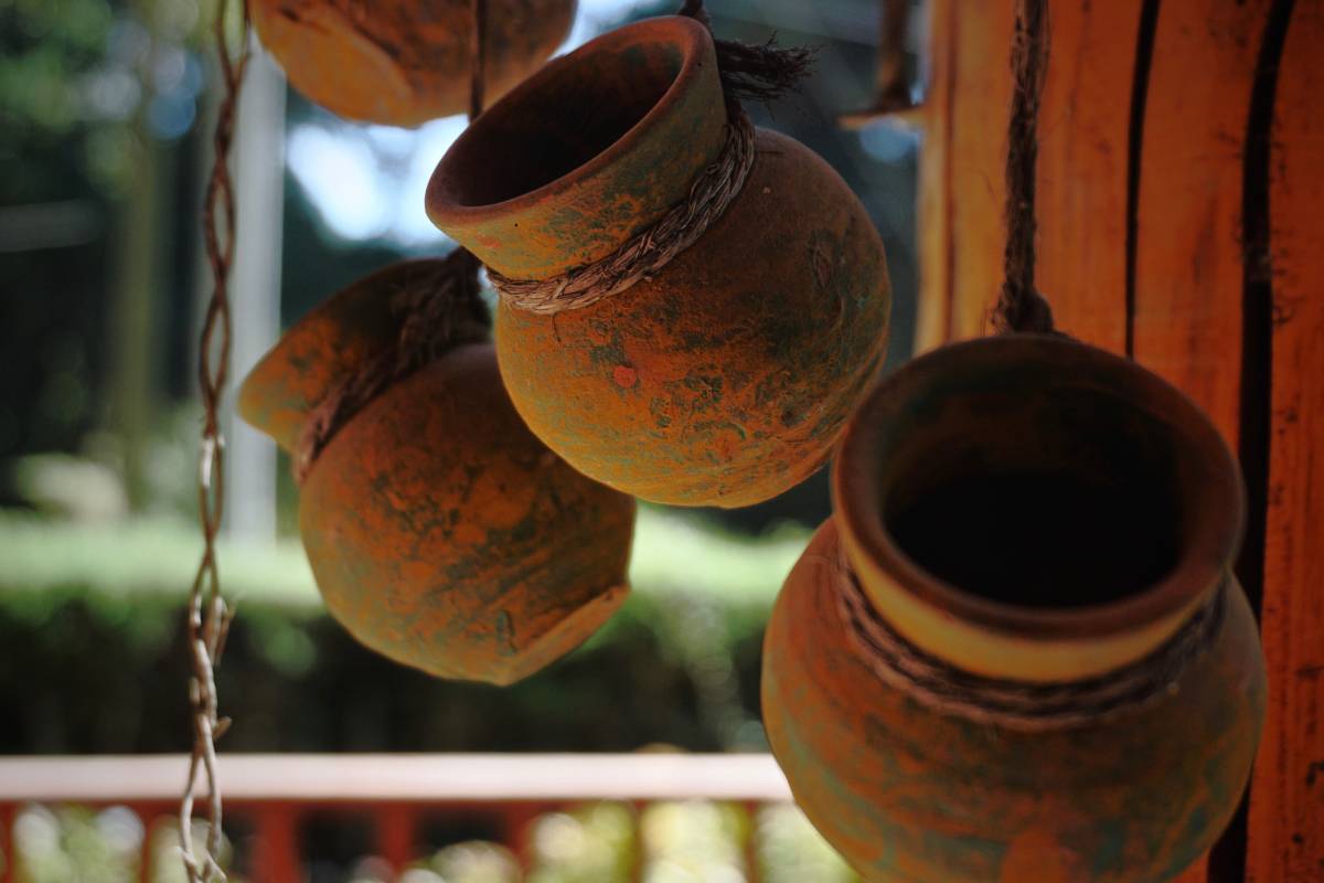
[[[931,429],[949,441],[880,488],[896,545],[1018,606],[1107,604],[1168,577],[1186,520],[1170,428],[1099,389],[1006,392],[944,412]]]

